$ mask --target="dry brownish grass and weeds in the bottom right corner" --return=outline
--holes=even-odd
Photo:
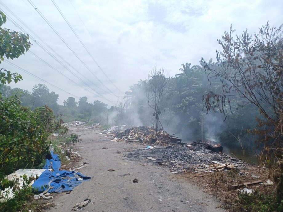
[[[231,169],[229,171],[220,171],[213,173],[195,173],[187,172],[176,175],[176,178],[182,181],[189,181],[201,187],[205,192],[213,194],[221,200],[221,207],[229,211],[250,211],[250,212],[273,212],[283,211],[283,201],[276,201],[276,185],[249,185],[241,186],[238,189],[230,184],[251,182],[254,179],[251,175],[260,176],[260,180],[265,182],[270,179],[270,170],[253,165],[246,165],[242,172],[249,172],[249,175],[238,175],[239,170]],[[240,194],[240,190],[247,187],[255,192],[251,195]]]

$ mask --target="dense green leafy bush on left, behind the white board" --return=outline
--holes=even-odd
[[[50,133],[67,131],[50,108],[31,111],[16,96],[0,98],[0,114],[0,172],[6,175],[38,165],[49,149]]]

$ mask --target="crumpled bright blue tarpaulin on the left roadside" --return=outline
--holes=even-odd
[[[60,166],[61,161],[58,155],[50,151],[50,155],[47,156],[44,166],[46,170],[34,182],[32,187],[39,192],[46,190],[48,190],[49,193],[63,192],[73,190],[73,188],[81,184],[82,181],[90,180],[90,177],[82,175],[77,171],[59,171]],[[53,168],[54,171],[48,170],[51,168]]]

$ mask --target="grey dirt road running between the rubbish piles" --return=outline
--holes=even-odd
[[[124,149],[145,146],[113,142],[94,130],[70,129],[83,140],[74,146],[82,155],[82,160],[74,166],[87,162],[87,167],[79,171],[91,180],[75,187],[70,194],[55,194],[52,200],[55,207],[47,211],[71,211],[85,198],[91,199],[83,208],[85,212],[225,211],[218,207],[220,202],[198,187],[173,179],[167,168],[130,161],[124,156]],[[133,183],[135,178],[138,183]]]

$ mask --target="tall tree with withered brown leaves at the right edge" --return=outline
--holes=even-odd
[[[201,64],[208,79],[219,79],[222,92],[209,92],[203,96],[207,111],[226,115],[247,104],[256,106],[261,117],[256,117],[258,128],[252,132],[260,135],[266,161],[277,161],[278,201],[283,198],[283,25],[278,29],[269,23],[250,36],[245,30],[241,36],[233,34],[232,26],[222,39],[217,40],[222,51],[217,51],[217,64],[209,65],[203,58]]]

